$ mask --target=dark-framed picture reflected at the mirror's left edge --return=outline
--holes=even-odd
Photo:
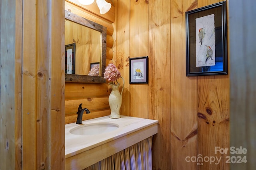
[[[72,50],[72,57],[68,59],[68,53]],[[71,55],[71,54],[69,54]],[[76,59],[76,43],[65,45],[65,73],[75,74],[75,59]],[[71,61],[71,62],[69,62]],[[70,69],[71,67],[71,69]],[[70,72],[71,70],[71,72]]]

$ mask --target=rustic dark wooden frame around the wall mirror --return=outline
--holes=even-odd
[[[107,36],[107,28],[95,23],[93,21],[87,20],[81,16],[73,14],[65,10],[65,19],[73,21],[75,23],[79,23],[86,27],[92,28],[96,31],[101,32],[101,42],[102,42],[102,56],[101,56],[101,76],[87,76],[87,75],[78,75],[78,74],[65,74],[65,82],[78,82],[78,83],[104,83],[106,80],[104,79],[104,71],[106,68],[106,36]]]

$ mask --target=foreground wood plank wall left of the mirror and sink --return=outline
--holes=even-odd
[[[64,169],[64,3],[0,6],[0,169]]]

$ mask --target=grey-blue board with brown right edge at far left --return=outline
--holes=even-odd
[[[20,1],[0,2],[0,169],[21,169]]]

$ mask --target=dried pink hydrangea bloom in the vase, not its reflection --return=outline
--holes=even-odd
[[[121,77],[121,73],[118,71],[118,69],[114,64],[111,63],[111,64],[108,64],[108,66],[106,66],[106,69],[104,72],[105,79],[115,84],[115,81],[117,82],[117,79],[120,77]]]

